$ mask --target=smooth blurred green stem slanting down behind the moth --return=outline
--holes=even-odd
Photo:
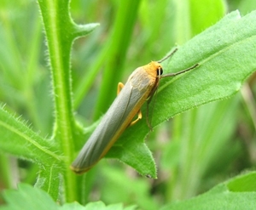
[[[102,87],[96,106],[95,119],[107,111],[116,96],[116,87],[121,77],[125,54],[131,40],[133,26],[137,19],[139,0],[123,0],[119,3],[113,33],[108,41],[108,60],[103,73]]]

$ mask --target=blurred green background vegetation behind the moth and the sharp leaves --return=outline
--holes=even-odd
[[[118,0],[73,0],[70,5],[76,23],[101,24],[73,44],[74,105],[77,117],[88,126],[108,109],[117,82],[125,82],[137,66],[160,60],[172,46],[185,43],[230,11],[239,9],[245,15],[256,9],[253,0],[142,0],[126,9],[134,26],[128,21],[122,27],[117,23],[117,18],[122,18],[120,4]],[[50,136],[52,91],[38,11],[35,0],[0,2],[0,101],[32,129]],[[114,31],[122,28],[127,28],[121,31],[125,41],[114,39]],[[116,72],[109,93],[102,92],[103,64]],[[81,91],[87,77],[91,79]],[[157,163],[158,179],[145,179],[122,163],[102,160],[89,174],[85,201],[121,201],[156,209],[168,201],[198,195],[253,168],[254,94],[255,78],[251,77],[233,98],[187,111],[150,133],[146,141]],[[8,167],[9,172],[5,170]],[[0,153],[0,190],[15,187],[20,181],[34,184],[37,171],[30,162]]]

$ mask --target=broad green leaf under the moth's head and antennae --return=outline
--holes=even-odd
[[[256,69],[256,26],[253,24],[255,18],[255,11],[242,18],[237,11],[232,12],[185,43],[172,59],[163,63],[165,73],[171,70],[181,71],[197,63],[200,66],[183,75],[161,79],[154,103],[153,126],[198,105],[236,94],[242,82]],[[152,106],[150,110],[153,110]],[[143,116],[141,122],[125,130],[117,143],[125,146],[119,147],[117,152],[125,153],[130,144],[143,142],[149,130],[145,122],[145,106]],[[116,148],[113,147],[112,150]],[[129,159],[130,162],[137,162],[139,158],[130,156]],[[150,156],[148,162],[152,162]],[[144,163],[144,160],[140,162],[139,167],[144,167]],[[137,171],[140,171],[139,167],[136,167]],[[152,168],[154,167],[148,168],[147,173],[151,170],[148,174],[154,177],[155,171],[152,171]]]

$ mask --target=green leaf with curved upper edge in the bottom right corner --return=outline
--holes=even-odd
[[[247,179],[250,177],[251,179]],[[255,180],[255,173],[248,173],[242,175],[241,182],[251,184]],[[178,201],[162,207],[161,210],[166,209],[191,209],[191,210],[207,210],[207,209],[255,209],[256,189],[244,190],[243,192],[234,192],[229,189],[230,183],[233,183],[237,178],[231,179],[226,184],[218,184],[212,190],[201,196],[189,199],[187,201]]]

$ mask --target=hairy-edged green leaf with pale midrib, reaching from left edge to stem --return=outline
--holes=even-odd
[[[56,150],[53,142],[40,137],[26,126],[26,122],[3,110],[3,107],[0,108],[0,136],[0,150],[14,156],[45,166],[61,159],[53,152]]]

